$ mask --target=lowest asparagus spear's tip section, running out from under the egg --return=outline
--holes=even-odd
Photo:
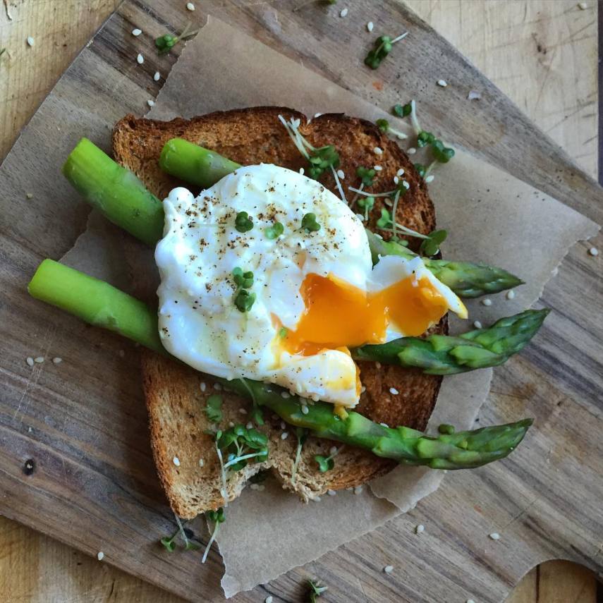
[[[325,402],[309,404],[307,413],[303,413],[299,398],[284,398],[284,390],[279,387],[250,379],[218,380],[240,396],[266,406],[289,425],[310,430],[315,437],[358,446],[398,463],[432,469],[469,469],[504,458],[532,425],[531,419],[523,419],[507,425],[427,436],[409,427],[384,427],[353,411],[341,419],[334,415],[333,405]]]

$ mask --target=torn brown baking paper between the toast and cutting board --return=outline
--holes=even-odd
[[[393,119],[214,18],[188,42],[149,115],[170,119],[257,105],[290,106],[307,116],[345,112],[371,121]],[[437,130],[437,124],[429,126]],[[405,123],[396,127],[408,129]],[[497,264],[526,281],[513,300],[502,293],[492,296],[489,307],[468,303],[470,322],[463,329],[471,328],[475,319],[487,323],[535,303],[568,248],[597,232],[596,224],[573,209],[463,152],[434,173],[430,193],[438,226],[449,231],[446,257]],[[127,238],[91,217],[88,230],[65,259],[80,268],[90,264],[95,274],[119,284],[125,276],[111,274],[108,267],[120,264],[110,257],[124,246],[132,257]],[[104,267],[99,266],[102,257],[107,260]],[[150,255],[134,261],[148,263]],[[456,322],[453,328],[458,329]],[[492,370],[446,377],[430,428],[440,422],[471,427],[491,377]],[[408,511],[437,489],[443,477],[425,468],[400,467],[358,494],[338,492],[307,505],[274,482],[262,492],[246,490],[229,505],[218,537],[226,597],[272,580]]]

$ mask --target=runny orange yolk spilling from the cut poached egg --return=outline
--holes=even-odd
[[[281,343],[289,353],[303,355],[382,343],[390,324],[406,336],[417,336],[448,310],[444,296],[425,277],[408,276],[367,293],[333,276],[307,274],[300,293],[305,310]]]

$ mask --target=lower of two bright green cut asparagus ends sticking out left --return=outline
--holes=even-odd
[[[159,339],[157,312],[104,281],[44,260],[28,291],[32,297],[56,305],[95,327],[116,331],[151,350],[166,353]]]

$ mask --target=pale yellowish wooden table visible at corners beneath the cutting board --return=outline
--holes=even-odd
[[[4,0],[7,11],[0,6],[0,49],[6,47],[7,52],[0,57],[0,157],[117,4],[119,0]],[[596,175],[594,1],[587,2],[586,27],[573,35],[568,33],[566,16],[581,9],[571,0],[407,0],[406,4],[468,56],[585,171]],[[34,38],[32,47],[26,42],[28,36]],[[0,599],[4,601],[178,600],[2,518],[0,551]],[[530,572],[509,600],[595,603],[597,585],[583,568],[550,561]]]

